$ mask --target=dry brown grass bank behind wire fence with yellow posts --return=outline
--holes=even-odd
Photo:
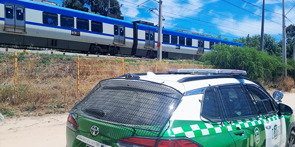
[[[126,73],[165,72],[169,68],[211,68],[192,61],[18,55],[15,87],[14,54],[0,55],[0,112],[6,116],[42,115],[69,111],[102,79]],[[123,65],[123,67],[122,67]],[[79,91],[78,91],[79,87]],[[15,89],[16,88],[16,89]]]

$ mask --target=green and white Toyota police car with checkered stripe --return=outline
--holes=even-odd
[[[100,81],[67,119],[67,147],[295,147],[293,108],[245,71],[170,69]]]

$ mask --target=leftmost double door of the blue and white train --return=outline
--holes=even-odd
[[[4,14],[4,30],[25,32],[26,31],[26,20],[25,20],[25,7],[15,4],[5,3],[5,14]]]

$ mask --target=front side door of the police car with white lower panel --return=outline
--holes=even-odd
[[[250,96],[255,100],[258,111],[263,115],[266,133],[266,147],[285,147],[286,123],[283,116],[277,115],[276,102],[256,85],[246,85]]]

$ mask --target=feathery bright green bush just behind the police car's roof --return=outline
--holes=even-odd
[[[214,46],[214,49],[203,55],[200,60],[220,69],[247,71],[247,76],[251,79],[267,81],[281,75],[286,68],[281,58],[255,48],[218,44]]]

